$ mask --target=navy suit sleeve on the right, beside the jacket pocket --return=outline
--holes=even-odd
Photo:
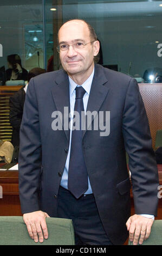
[[[125,148],[129,155],[135,214],[157,216],[157,163],[147,114],[134,78],[131,78],[128,85],[122,120]]]

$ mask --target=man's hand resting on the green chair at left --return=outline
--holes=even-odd
[[[49,217],[49,215],[43,211],[34,211],[23,215],[23,220],[27,225],[28,233],[35,242],[38,242],[38,237],[39,241],[43,242],[43,235],[45,239],[48,238],[46,217]]]

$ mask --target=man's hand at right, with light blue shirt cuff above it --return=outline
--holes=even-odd
[[[152,224],[152,218],[141,215],[135,214],[128,218],[126,226],[129,231],[129,240],[133,242],[133,245],[137,245],[138,240],[141,245],[150,236]]]

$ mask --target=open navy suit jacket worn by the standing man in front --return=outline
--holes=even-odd
[[[69,131],[51,129],[54,111],[69,107],[69,80],[63,70],[32,78],[20,131],[19,185],[22,212],[57,216],[57,194],[69,148]],[[70,107],[69,107],[70,111]],[[95,65],[87,111],[110,111],[110,134],[83,132],[90,184],[103,227],[115,245],[127,239],[132,173],[136,214],[157,214],[158,170],[148,120],[135,79]],[[92,120],[93,121],[93,120]],[[64,120],[62,121],[64,126]],[[126,150],[126,151],[125,151]]]

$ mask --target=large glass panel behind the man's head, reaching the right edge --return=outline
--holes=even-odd
[[[162,82],[162,1],[47,2],[48,11],[56,9],[51,20],[54,69],[60,68],[56,32],[63,22],[79,18],[95,28],[102,49],[101,64],[135,77],[138,82]]]

